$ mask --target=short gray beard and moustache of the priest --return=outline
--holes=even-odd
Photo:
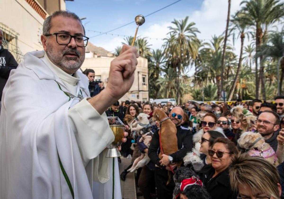
[[[76,53],[78,55],[78,58],[64,57],[64,54],[70,53],[70,52]],[[81,53],[78,50],[70,49],[70,48],[68,50],[62,51],[59,54],[59,53],[56,53],[55,51],[52,51],[50,47],[47,47],[46,55],[50,59],[50,61],[52,61],[52,63],[54,63],[60,69],[62,69],[63,71],[69,74],[76,72],[82,66],[85,60],[85,53],[81,55]],[[75,63],[69,62],[69,60],[76,60],[76,59],[78,59],[78,61],[76,61]]]

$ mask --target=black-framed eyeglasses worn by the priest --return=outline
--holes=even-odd
[[[70,35],[67,33],[52,33],[52,34],[46,34],[45,36],[56,36],[56,42],[60,45],[68,45],[72,38],[74,38],[76,44],[80,47],[85,47],[88,44],[88,37],[82,36],[82,35]]]

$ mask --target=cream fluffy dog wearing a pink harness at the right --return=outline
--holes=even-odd
[[[265,142],[260,133],[244,132],[238,139],[239,146],[247,150],[249,156],[260,156],[273,165],[279,165],[279,160],[272,147]]]

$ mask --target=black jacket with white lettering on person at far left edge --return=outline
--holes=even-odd
[[[10,71],[16,69],[18,63],[7,49],[0,50],[0,101],[3,88],[9,78]]]

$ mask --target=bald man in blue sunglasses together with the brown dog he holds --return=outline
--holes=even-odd
[[[169,117],[161,110],[156,110],[153,117],[160,122],[160,129],[153,134],[148,156],[156,165],[157,195],[158,198],[172,198],[175,187],[172,176],[183,157],[192,149],[192,133],[181,126],[183,110],[180,107],[174,107]]]

